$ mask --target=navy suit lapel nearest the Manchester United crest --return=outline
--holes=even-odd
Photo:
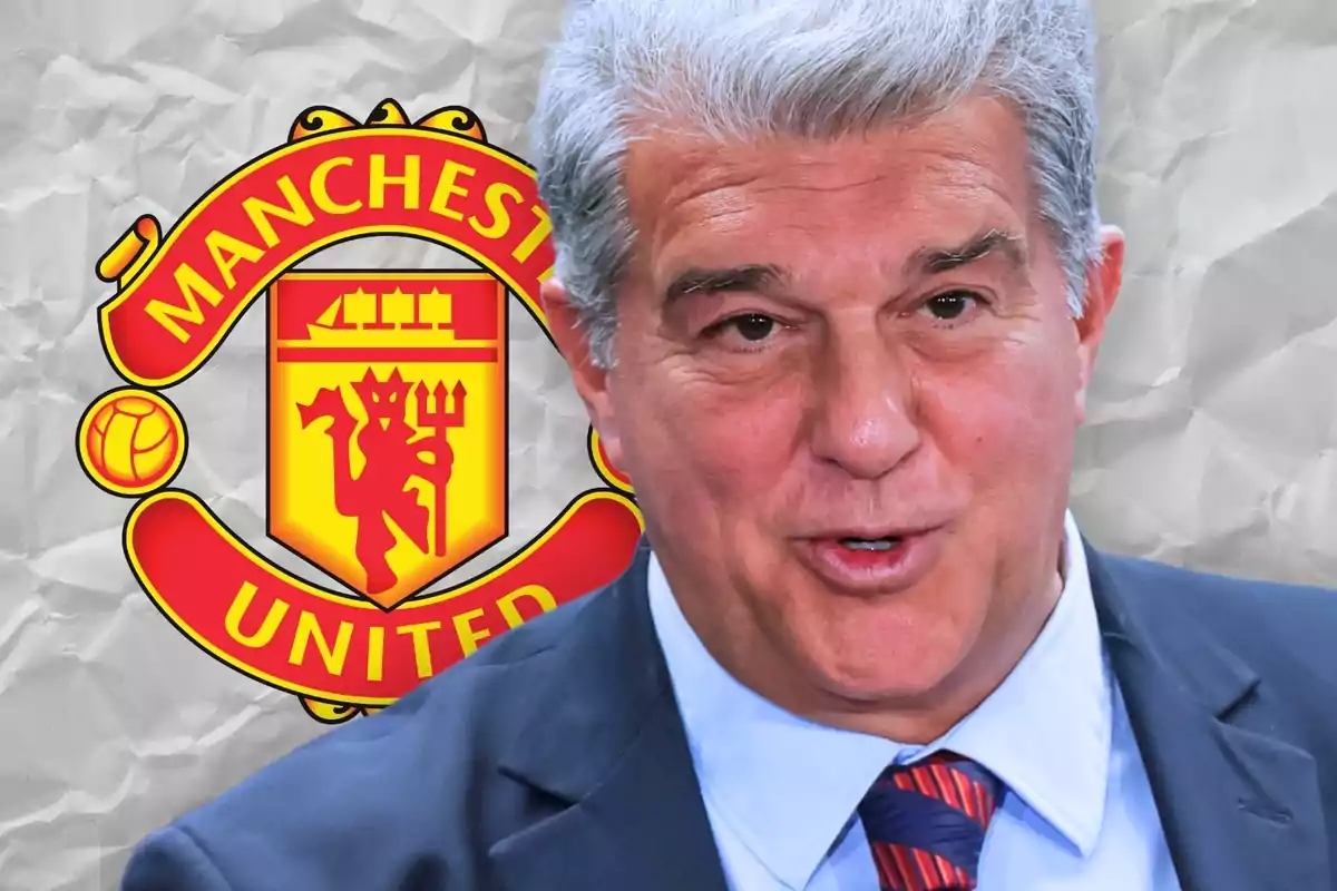
[[[491,850],[507,891],[725,891],[686,732],[654,635],[642,544],[595,594],[501,771],[555,800],[555,814]]]

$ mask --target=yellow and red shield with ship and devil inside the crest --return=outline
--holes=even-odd
[[[269,289],[269,534],[390,609],[507,533],[507,291],[485,273]]]

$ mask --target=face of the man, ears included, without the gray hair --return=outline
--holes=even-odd
[[[836,142],[656,131],[624,175],[612,370],[545,298],[693,627],[802,713],[973,707],[1059,590],[1120,243],[1074,319],[1024,131],[985,98]]]

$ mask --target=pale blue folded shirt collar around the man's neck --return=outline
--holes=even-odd
[[[916,747],[814,724],[739,684],[687,624],[651,554],[655,633],[713,819],[783,884],[802,888],[878,773],[949,748],[989,768],[1090,855],[1104,815],[1111,685],[1071,513],[1063,565],[1058,606],[1021,661],[975,712]]]

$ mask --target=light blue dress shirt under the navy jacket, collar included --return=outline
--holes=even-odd
[[[651,558],[655,632],[730,887],[877,891],[854,808],[893,761],[947,748],[1009,791],[984,843],[980,891],[1179,891],[1071,514],[1063,578],[1012,673],[941,739],[916,747],[813,724],[735,681]]]

